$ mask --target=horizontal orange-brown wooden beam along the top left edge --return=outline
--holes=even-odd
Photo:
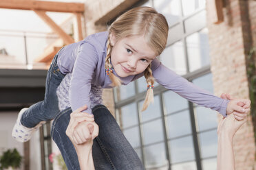
[[[65,3],[55,1],[1,0],[0,8],[16,10],[44,10],[49,12],[81,12],[85,11],[84,3]]]

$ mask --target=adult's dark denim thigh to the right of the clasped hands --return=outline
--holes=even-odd
[[[138,154],[122,134],[116,119],[109,110],[103,105],[98,105],[92,109],[92,112],[99,127],[98,144],[103,153],[109,157],[114,169],[145,169]],[[92,151],[95,158],[94,150]]]

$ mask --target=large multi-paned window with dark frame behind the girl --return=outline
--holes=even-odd
[[[166,16],[167,47],[159,60],[213,93],[205,0],[151,0]],[[142,77],[114,89],[116,118],[146,169],[216,169],[217,112],[192,104],[154,84],[154,104],[140,112],[147,84]]]

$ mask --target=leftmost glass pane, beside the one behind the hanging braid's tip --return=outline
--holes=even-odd
[[[120,127],[125,128],[138,124],[138,115],[136,104],[129,104],[119,109]]]

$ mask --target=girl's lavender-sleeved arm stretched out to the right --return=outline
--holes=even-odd
[[[184,77],[177,75],[175,72],[171,71],[171,69],[168,69],[157,59],[153,60],[151,69],[153,72],[153,77],[165,88],[173,90],[181,97],[184,97],[185,99],[188,99],[199,106],[216,110],[224,117],[226,117],[226,113],[230,114],[234,109],[238,109],[236,110],[238,112],[241,112],[243,109],[239,106],[234,107],[235,104],[232,104],[233,107],[226,110],[229,103],[227,99],[221,99],[220,97],[211,94],[209,91],[195,86]]]

